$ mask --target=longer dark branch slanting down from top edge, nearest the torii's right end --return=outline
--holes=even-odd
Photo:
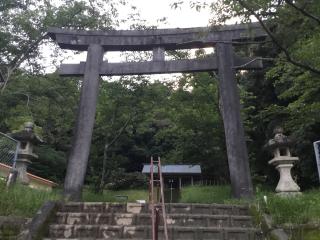
[[[265,30],[265,32],[268,34],[268,36],[271,38],[271,40],[277,45],[277,47],[283,51],[284,55],[287,58],[287,61],[292,63],[295,66],[298,66],[300,68],[303,68],[305,70],[308,70],[310,72],[316,73],[316,74],[320,74],[320,70],[313,68],[309,65],[303,64],[301,62],[298,62],[296,60],[294,60],[291,56],[290,53],[288,52],[288,50],[281,45],[281,43],[278,41],[278,39],[276,38],[276,36],[271,32],[271,30],[266,26],[266,24],[264,23],[264,21],[260,18],[259,14],[257,14],[253,9],[251,9],[244,1],[242,0],[237,0],[239,2],[239,4],[245,8],[251,15],[253,15],[258,22],[260,23],[261,27]]]

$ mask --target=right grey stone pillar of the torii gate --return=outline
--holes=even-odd
[[[225,131],[232,195],[253,196],[248,152],[240,115],[240,95],[235,79],[232,43],[216,44],[221,114]]]

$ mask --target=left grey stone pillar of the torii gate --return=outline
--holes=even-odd
[[[103,54],[104,49],[101,45],[89,45],[74,139],[64,181],[63,195],[68,201],[81,200],[96,114]]]

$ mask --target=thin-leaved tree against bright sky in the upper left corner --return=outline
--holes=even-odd
[[[49,44],[48,27],[110,29],[118,24],[117,7],[125,1],[3,0],[0,3],[0,87],[4,91],[17,69],[42,70]],[[58,54],[57,49],[55,54]],[[55,56],[57,57],[57,56]]]

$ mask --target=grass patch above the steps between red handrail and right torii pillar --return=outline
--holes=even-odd
[[[181,191],[182,203],[225,203],[231,199],[231,188],[225,186],[189,186]]]

